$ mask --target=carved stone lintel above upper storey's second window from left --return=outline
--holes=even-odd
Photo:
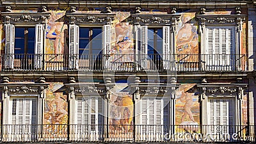
[[[104,25],[111,24],[115,14],[111,13],[66,13],[70,24]]]

